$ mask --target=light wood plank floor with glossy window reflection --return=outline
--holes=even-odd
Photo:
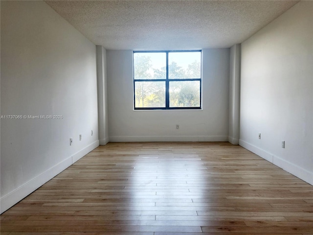
[[[99,146],[1,215],[1,235],[313,235],[313,186],[222,142]]]

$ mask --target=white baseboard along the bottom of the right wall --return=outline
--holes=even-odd
[[[267,160],[268,162],[277,165],[278,167],[291,173],[292,175],[298,177],[299,179],[309,183],[310,185],[313,185],[313,172],[303,169],[298,165],[288,162],[246,141],[239,140],[239,145],[255,153],[261,158]]]

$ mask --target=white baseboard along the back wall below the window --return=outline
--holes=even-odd
[[[110,136],[110,142],[224,142],[228,136]]]

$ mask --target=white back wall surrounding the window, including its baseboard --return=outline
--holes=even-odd
[[[133,51],[107,50],[110,141],[228,141],[229,48],[202,57],[203,110],[134,111]]]

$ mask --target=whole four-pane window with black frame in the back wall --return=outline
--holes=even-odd
[[[201,109],[201,50],[134,51],[134,109]]]

